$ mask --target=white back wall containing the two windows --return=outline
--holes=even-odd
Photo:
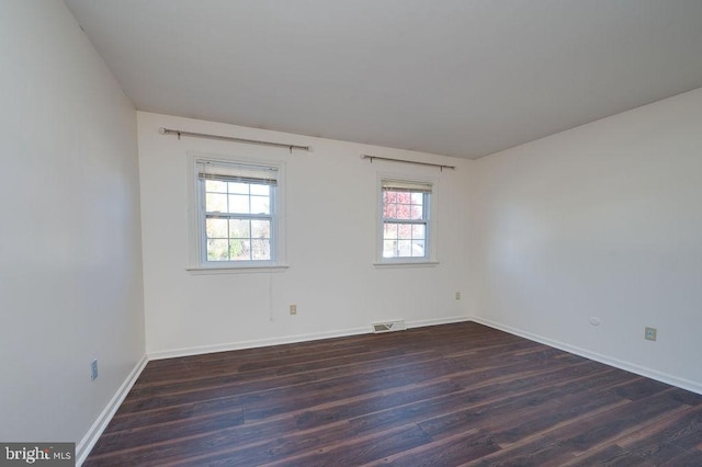
[[[456,300],[466,262],[469,161],[189,118],[137,113],[147,351],[165,356],[352,332],[374,320],[465,318]],[[312,145],[313,152],[159,134],[160,127]],[[189,266],[188,153],[285,163],[287,262],[280,273],[194,275]],[[440,172],[362,160],[362,153],[451,163]],[[376,173],[438,181],[434,267],[376,269]],[[297,305],[297,315],[288,306]]]

